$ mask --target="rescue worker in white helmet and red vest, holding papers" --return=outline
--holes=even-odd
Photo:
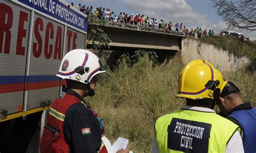
[[[50,107],[41,153],[95,153],[101,149],[104,124],[84,97],[95,95],[97,76],[105,72],[98,57],[88,50],[71,50],[63,57],[56,76],[65,79],[67,87]],[[120,152],[129,152],[129,148]]]

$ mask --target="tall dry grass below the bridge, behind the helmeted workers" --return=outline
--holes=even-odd
[[[125,137],[132,151],[150,152],[157,118],[184,105],[183,99],[176,98],[183,67],[176,60],[153,67],[143,57],[130,68],[122,62],[116,71],[108,71],[109,77],[97,85],[96,96],[86,99],[104,118],[105,136],[111,142]],[[256,100],[255,73],[241,70],[225,76],[237,83],[246,101]]]

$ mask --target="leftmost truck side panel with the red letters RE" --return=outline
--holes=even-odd
[[[0,0],[0,110],[23,111],[30,10]]]

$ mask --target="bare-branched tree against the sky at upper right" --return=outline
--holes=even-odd
[[[228,28],[240,28],[248,31],[256,30],[256,2],[255,0],[211,0],[217,14]]]

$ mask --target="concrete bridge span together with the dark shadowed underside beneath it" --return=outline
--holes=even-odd
[[[136,50],[153,50],[158,55],[160,62],[166,59],[172,59],[181,51],[181,41],[185,38],[180,32],[164,31],[159,28],[139,27],[108,22],[105,26],[100,26],[108,35],[112,42],[110,48],[98,50],[96,53],[100,57],[107,59],[107,64],[111,67],[125,52],[134,52]],[[90,33],[91,25],[88,26]],[[87,43],[86,48],[91,48],[92,43]]]

